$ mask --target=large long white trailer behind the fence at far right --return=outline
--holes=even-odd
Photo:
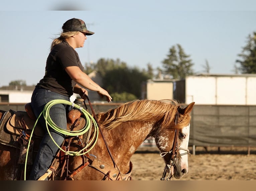
[[[256,105],[256,75],[200,74],[187,76],[185,103]]]

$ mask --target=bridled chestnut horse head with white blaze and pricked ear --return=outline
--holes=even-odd
[[[194,104],[195,102],[192,102],[185,108],[177,106],[171,123],[167,126],[159,125],[155,133],[156,145],[166,164],[161,180],[168,180],[173,175],[179,179],[188,172],[189,122]]]

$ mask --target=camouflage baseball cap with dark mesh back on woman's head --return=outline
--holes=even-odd
[[[66,21],[62,26],[63,32],[81,31],[86,35],[93,35],[94,32],[88,31],[85,22],[81,19],[70,19]]]

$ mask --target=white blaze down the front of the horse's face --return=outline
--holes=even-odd
[[[187,126],[182,128],[181,133],[186,135],[186,137],[184,139],[179,139],[179,141],[181,142],[181,144],[179,145],[179,148],[184,148],[187,149],[188,148],[188,140],[189,140],[189,128],[190,128],[190,124],[188,124]],[[179,154],[182,153],[186,153],[187,151],[179,149]],[[188,169],[188,154],[184,154],[181,156],[181,169]]]

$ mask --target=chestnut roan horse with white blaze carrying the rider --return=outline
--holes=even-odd
[[[194,104],[182,108],[175,100],[133,100],[95,114],[101,133],[90,152],[69,156],[67,180],[131,180],[130,158],[148,137],[154,137],[166,165],[161,180],[181,178],[188,172],[189,123]],[[1,121],[5,113],[0,110]],[[14,180],[16,155],[17,148],[0,142],[0,180]],[[57,167],[61,168],[60,163]],[[59,174],[55,170],[52,180]]]

